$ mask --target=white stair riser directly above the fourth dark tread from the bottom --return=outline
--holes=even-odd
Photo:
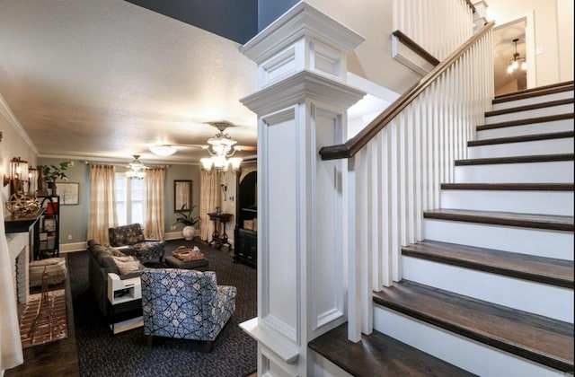
[[[442,189],[441,208],[574,215],[573,191]]]

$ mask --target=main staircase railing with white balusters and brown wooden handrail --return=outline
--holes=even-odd
[[[483,26],[366,128],[323,160],[347,158],[349,339],[371,333],[371,293],[402,279],[401,246],[423,239],[423,211],[491,110],[493,22]]]

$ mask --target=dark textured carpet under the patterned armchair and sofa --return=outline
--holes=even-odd
[[[88,281],[87,251],[67,253],[74,302],[75,336],[82,376],[217,376],[243,377],[257,369],[257,342],[239,324],[257,316],[256,269],[233,263],[225,251],[196,241],[168,241],[166,255],[178,246],[198,245],[218,285],[237,287],[235,311],[219,333],[211,353],[205,343],[175,338],[154,338],[146,344],[142,328],[111,335]]]

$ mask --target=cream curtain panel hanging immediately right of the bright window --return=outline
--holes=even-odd
[[[144,232],[147,239],[164,240],[165,206],[163,168],[147,169],[144,179]]]

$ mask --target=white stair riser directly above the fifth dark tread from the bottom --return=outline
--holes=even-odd
[[[456,166],[456,183],[572,183],[573,161]]]

